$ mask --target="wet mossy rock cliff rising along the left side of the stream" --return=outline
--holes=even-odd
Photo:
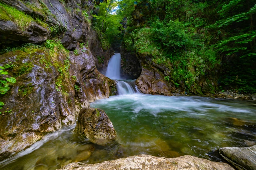
[[[3,0],[1,8],[31,21],[21,28],[8,12],[0,19],[1,47],[23,45],[0,55],[0,66],[11,63],[3,79],[16,78],[0,96],[0,160],[75,123],[82,107],[115,91],[96,68],[95,55],[109,59],[113,50],[103,50],[91,28],[93,1]]]

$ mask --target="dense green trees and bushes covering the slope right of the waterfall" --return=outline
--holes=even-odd
[[[252,0],[109,0],[96,5],[93,25],[167,65],[177,86],[207,77],[219,90],[255,93],[255,18]]]

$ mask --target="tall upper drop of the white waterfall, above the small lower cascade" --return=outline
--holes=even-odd
[[[113,55],[108,64],[106,75],[110,79],[121,79],[121,54],[116,53]]]

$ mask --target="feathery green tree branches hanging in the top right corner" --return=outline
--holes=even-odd
[[[218,11],[220,20],[211,27],[225,29],[229,33],[224,35],[217,44],[213,45],[216,51],[226,55],[241,53],[241,57],[256,56],[254,18],[256,4],[253,1],[231,0],[220,5]]]

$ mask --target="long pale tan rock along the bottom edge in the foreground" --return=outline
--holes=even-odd
[[[162,158],[137,155],[96,164],[70,163],[61,170],[234,170],[226,163],[211,162],[194,156]]]

